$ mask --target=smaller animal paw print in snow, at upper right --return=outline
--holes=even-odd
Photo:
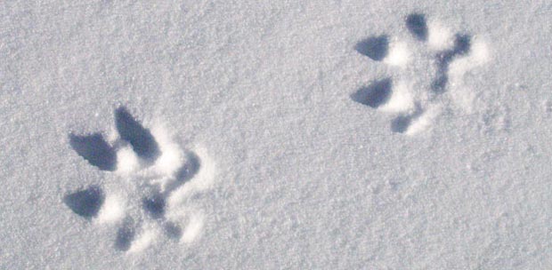
[[[393,114],[391,131],[413,135],[431,127],[447,104],[446,99],[471,110],[475,93],[464,83],[464,77],[487,63],[490,55],[481,38],[452,35],[438,21],[427,21],[424,14],[408,15],[405,27],[413,37],[410,44],[387,35],[369,36],[356,44],[357,52],[398,68],[402,75],[399,79],[393,76],[375,79],[355,91],[351,99]],[[412,61],[410,48],[418,44],[423,45],[422,59]],[[434,70],[432,78],[425,77],[431,70]]]

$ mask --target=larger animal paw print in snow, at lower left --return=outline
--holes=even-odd
[[[144,250],[160,241],[160,234],[193,242],[203,217],[185,202],[210,187],[214,163],[202,148],[184,152],[163,128],[144,128],[126,107],[115,110],[115,130],[111,139],[69,133],[78,155],[120,181],[69,192],[63,202],[96,225],[117,227],[117,250]]]

